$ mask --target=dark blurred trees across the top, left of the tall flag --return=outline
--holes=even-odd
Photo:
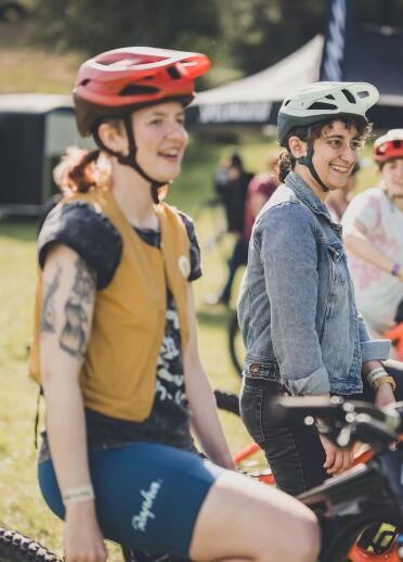
[[[203,51],[226,75],[231,67],[243,74],[261,71],[294,52],[323,31],[328,4],[328,0],[23,1],[34,5],[40,38],[53,48],[88,54],[127,44]]]

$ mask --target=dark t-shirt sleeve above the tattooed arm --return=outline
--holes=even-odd
[[[96,272],[96,289],[105,289],[120,263],[122,240],[118,230],[95,208],[82,201],[56,205],[39,233],[39,265],[43,269],[52,244],[70,247]]]

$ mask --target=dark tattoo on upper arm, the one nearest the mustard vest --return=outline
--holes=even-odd
[[[96,276],[81,258],[77,259],[75,268],[75,282],[64,307],[66,322],[60,346],[73,357],[83,357],[88,341],[86,328],[89,322],[83,305],[90,305],[94,299]]]

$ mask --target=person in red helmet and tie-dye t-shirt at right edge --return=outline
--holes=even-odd
[[[359,310],[380,337],[403,299],[403,129],[376,139],[373,154],[380,182],[353,199],[342,226]]]

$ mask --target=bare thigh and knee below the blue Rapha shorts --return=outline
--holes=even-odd
[[[245,476],[224,473],[202,507],[191,557],[308,562],[316,559],[318,548],[318,525],[306,506]]]

